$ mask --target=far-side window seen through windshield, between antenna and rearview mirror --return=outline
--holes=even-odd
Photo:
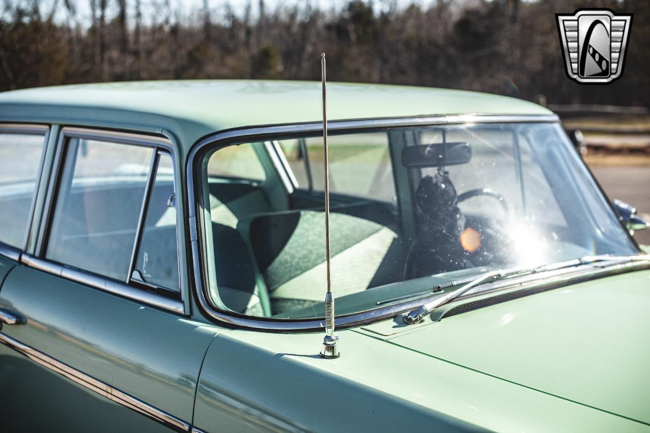
[[[322,192],[322,137],[281,140],[279,144],[298,180],[298,187]],[[328,145],[330,192],[383,202],[395,200],[395,180],[386,133],[331,135]],[[304,150],[307,151],[308,165],[304,163]]]

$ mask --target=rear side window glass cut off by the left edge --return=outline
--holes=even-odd
[[[0,134],[0,242],[23,248],[43,135]]]

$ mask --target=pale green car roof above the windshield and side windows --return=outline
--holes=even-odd
[[[132,81],[0,93],[0,121],[171,132],[186,150],[235,127],[318,122],[320,82]],[[445,114],[551,114],[521,99],[478,92],[328,83],[328,118],[350,120]]]

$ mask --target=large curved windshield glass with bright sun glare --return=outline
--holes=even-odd
[[[329,144],[339,315],[486,270],[638,253],[557,124],[336,133]],[[204,264],[217,308],[323,317],[322,155],[318,135],[207,153]]]

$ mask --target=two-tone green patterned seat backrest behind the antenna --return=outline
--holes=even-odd
[[[253,255],[273,314],[321,302],[326,290],[322,211],[259,215],[250,222]],[[337,296],[399,280],[394,231],[363,218],[330,214],[332,285]],[[389,251],[391,254],[389,254]],[[386,268],[389,269],[386,269]]]

